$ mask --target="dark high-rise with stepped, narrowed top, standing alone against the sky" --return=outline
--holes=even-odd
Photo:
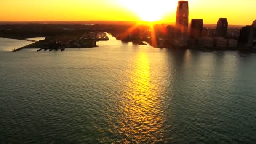
[[[227,18],[219,18],[216,28],[216,36],[217,37],[227,37],[227,27],[228,22]]]

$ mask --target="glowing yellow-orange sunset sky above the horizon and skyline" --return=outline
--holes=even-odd
[[[162,20],[175,22],[178,0],[0,0],[0,21]],[[189,19],[248,25],[255,0],[189,0]],[[189,20],[190,21],[190,20]]]

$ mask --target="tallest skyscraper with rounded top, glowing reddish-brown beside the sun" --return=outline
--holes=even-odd
[[[176,28],[181,34],[187,33],[189,26],[189,3],[179,1],[176,13]]]

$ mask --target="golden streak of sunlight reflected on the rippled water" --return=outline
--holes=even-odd
[[[163,120],[157,91],[150,81],[150,67],[147,54],[139,53],[133,68],[128,71],[126,88],[120,96],[115,117],[115,135],[120,136],[121,143],[157,142],[161,140]]]

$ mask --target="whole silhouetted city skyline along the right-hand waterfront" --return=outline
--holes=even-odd
[[[215,29],[203,27],[203,19],[191,19],[189,27],[189,3],[179,1],[175,26],[159,27],[156,32],[161,47],[201,48],[253,48],[256,46],[256,20],[242,29],[228,29],[227,18],[219,18]],[[164,30],[163,30],[164,29]]]

